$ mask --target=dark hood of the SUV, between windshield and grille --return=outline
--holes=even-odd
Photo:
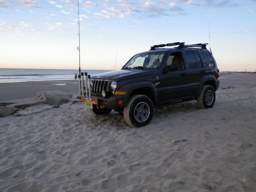
[[[92,79],[128,79],[158,73],[158,70],[117,70],[91,76]]]

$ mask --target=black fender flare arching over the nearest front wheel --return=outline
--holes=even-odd
[[[154,103],[154,105],[156,105],[157,101],[158,101],[157,89],[156,89],[154,83],[152,83],[151,81],[136,81],[136,82],[131,82],[131,83],[122,85],[122,87],[120,87],[118,90],[128,92],[123,101],[123,105],[126,105],[133,90],[139,89],[139,88],[146,88],[146,87],[148,87],[150,89],[152,96],[153,96],[152,102]]]

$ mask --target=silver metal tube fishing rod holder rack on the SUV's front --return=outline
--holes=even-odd
[[[87,73],[81,72],[81,75],[78,75],[78,86],[79,86],[79,93],[86,101],[92,101],[91,98],[91,79],[90,75]]]

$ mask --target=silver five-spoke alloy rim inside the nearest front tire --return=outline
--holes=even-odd
[[[150,114],[149,105],[146,102],[140,102],[134,108],[134,117],[138,122],[145,122]]]

